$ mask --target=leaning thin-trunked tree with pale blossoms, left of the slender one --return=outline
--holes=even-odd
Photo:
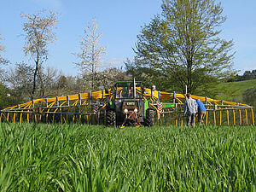
[[[25,55],[30,55],[35,62],[35,70],[33,74],[32,98],[37,88],[37,77],[41,79],[42,71],[40,68],[48,57],[47,45],[53,43],[56,39],[55,32],[53,32],[57,15],[54,11],[49,11],[49,15],[44,15],[44,11],[38,11],[35,15],[21,14],[21,17],[26,18],[23,24],[23,31],[25,32],[25,46],[23,47]],[[44,87],[43,87],[44,88]]]

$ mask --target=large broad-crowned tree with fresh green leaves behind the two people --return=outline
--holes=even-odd
[[[195,92],[232,72],[233,41],[219,38],[226,17],[214,0],[163,0],[157,15],[137,36],[131,73],[165,86]]]

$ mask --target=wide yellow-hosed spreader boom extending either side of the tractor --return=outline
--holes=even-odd
[[[122,89],[119,88],[118,94],[121,95]],[[142,93],[141,90],[137,89],[139,94]],[[164,119],[170,119],[170,125],[172,125],[172,117],[175,118],[175,123],[173,125],[183,125],[183,103],[186,100],[185,94],[175,93],[175,101],[177,102],[176,108],[165,108],[163,110],[163,114],[160,115],[157,111],[156,103],[158,102],[172,102],[174,93],[157,91],[145,89],[144,97],[150,101],[149,104],[151,108],[157,112],[157,122],[160,124],[160,117],[162,117],[162,122],[167,122]],[[205,102],[207,104],[207,113],[206,113],[206,125],[209,125],[209,116],[212,116],[213,125],[254,125],[254,113],[253,108],[246,104],[236,103],[236,102],[228,102],[222,100],[214,100],[205,96],[191,96],[193,99],[200,99],[201,102]],[[66,113],[66,119],[64,121],[68,121],[70,115],[72,121],[75,121],[75,113],[77,108],[79,108],[78,119],[81,121],[82,114],[85,114],[86,122],[89,122],[89,116],[93,115],[91,105],[96,102],[103,103],[101,108],[99,108],[99,113],[95,115],[97,120],[94,120],[96,123],[99,123],[100,113],[104,113],[104,117],[106,117],[105,109],[108,101],[113,100],[113,93],[111,90],[108,90],[108,94],[105,93],[104,90],[98,90],[90,93],[79,93],[70,96],[58,96],[51,98],[41,98],[35,99],[33,101],[25,102],[20,105],[15,105],[9,108],[4,108],[1,110],[0,119],[3,119],[3,113],[6,114],[7,121],[19,123],[22,122],[23,114],[26,114],[26,121],[30,122],[34,120],[35,122],[42,121],[42,115],[45,114],[46,122],[49,120],[49,113],[52,113],[52,122],[55,121],[55,114],[60,113],[61,123],[63,123],[63,115]],[[37,112],[37,108],[42,108],[41,112]],[[215,108],[216,107],[216,108]],[[65,109],[67,108],[67,109]],[[248,113],[247,109],[251,109],[251,113]],[[223,115],[222,111],[226,110],[226,115]],[[239,113],[239,123],[236,124],[236,110]],[[245,115],[243,115],[242,111],[244,110]],[[233,112],[233,122],[230,122],[230,111]],[[19,114],[20,113],[20,114]],[[165,113],[169,113],[169,115],[165,115]],[[172,115],[172,113],[175,113]],[[237,113],[237,114],[238,114]],[[219,114],[219,120],[217,120],[217,115]],[[238,119],[238,118],[237,118]],[[251,121],[252,119],[252,121]],[[225,121],[226,120],[226,121]],[[217,122],[218,121],[218,122]],[[244,121],[244,122],[243,122]]]

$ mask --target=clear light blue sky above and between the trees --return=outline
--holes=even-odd
[[[124,61],[132,59],[137,35],[154,15],[161,13],[161,0],[0,0],[0,33],[6,47],[1,53],[11,64],[25,61],[22,48],[22,24],[26,21],[20,13],[36,14],[38,10],[54,10],[58,16],[55,34],[57,40],[49,45],[49,58],[45,65],[55,67],[65,75],[77,75],[78,68],[73,55],[80,52],[80,36],[84,28],[96,19],[102,31],[101,44],[107,48],[103,63],[113,67],[125,67]],[[223,0],[222,7],[227,20],[222,25],[221,38],[233,39],[236,52],[234,68],[244,73],[256,69],[256,1]]]

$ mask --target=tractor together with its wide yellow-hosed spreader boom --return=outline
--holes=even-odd
[[[254,125],[253,107],[237,102],[192,96],[205,103],[205,125]],[[0,111],[9,122],[70,123],[107,126],[183,125],[185,94],[144,88],[143,82],[117,82],[102,89],[34,99]]]

